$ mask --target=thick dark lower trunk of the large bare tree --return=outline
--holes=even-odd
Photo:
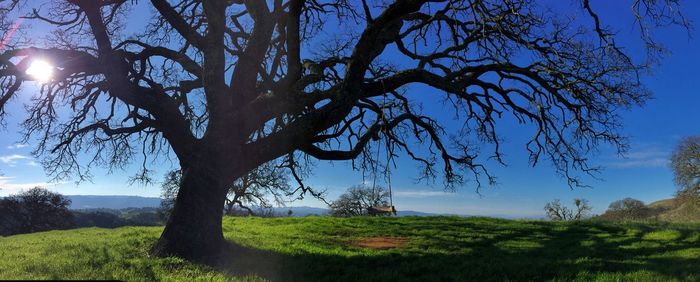
[[[205,264],[220,260],[225,247],[221,219],[227,186],[216,171],[213,164],[183,171],[175,206],[152,254]]]

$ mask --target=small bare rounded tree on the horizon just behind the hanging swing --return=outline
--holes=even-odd
[[[340,197],[330,204],[333,216],[367,215],[367,209],[389,204],[389,192],[384,187],[357,185],[348,188]]]

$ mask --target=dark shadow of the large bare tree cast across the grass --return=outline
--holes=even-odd
[[[673,255],[695,247],[694,243],[682,243],[691,230],[679,230],[680,238],[663,242],[644,239],[651,230],[630,235],[629,228],[609,224],[531,222],[524,226],[514,229],[465,223],[462,227],[469,232],[463,236],[472,236],[467,239],[414,236],[417,243],[407,249],[357,249],[350,255],[280,253],[231,243],[230,256],[220,270],[271,281],[586,280],[578,275],[637,271],[678,280],[700,276],[698,255]],[[444,227],[443,223],[420,223],[422,229]]]

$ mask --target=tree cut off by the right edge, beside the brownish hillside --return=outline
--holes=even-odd
[[[679,187],[680,199],[700,195],[700,136],[686,137],[676,146],[671,156],[671,169]]]

